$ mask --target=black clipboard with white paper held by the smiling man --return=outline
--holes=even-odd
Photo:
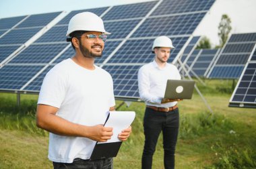
[[[104,126],[113,127],[113,135],[107,142],[96,142],[90,160],[116,157],[122,144],[117,136],[131,125],[134,118],[134,111],[110,111]]]

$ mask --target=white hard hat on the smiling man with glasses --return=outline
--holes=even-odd
[[[109,32],[105,31],[102,19],[92,12],[82,12],[74,15],[69,21],[66,36],[69,37],[69,34],[79,30],[110,34]]]

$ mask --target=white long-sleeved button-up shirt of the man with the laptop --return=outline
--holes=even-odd
[[[173,64],[166,63],[164,68],[159,68],[154,60],[139,68],[138,83],[141,100],[145,101],[146,105],[156,107],[172,107],[176,105],[177,101],[161,104],[168,79],[181,79],[179,70]]]

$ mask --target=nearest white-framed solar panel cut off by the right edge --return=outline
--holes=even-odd
[[[255,49],[254,49],[255,50]],[[256,108],[256,50],[236,84],[229,107]]]

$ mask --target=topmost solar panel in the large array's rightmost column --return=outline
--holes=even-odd
[[[192,11],[205,11],[212,7],[215,0],[164,0],[152,15],[168,15]]]

